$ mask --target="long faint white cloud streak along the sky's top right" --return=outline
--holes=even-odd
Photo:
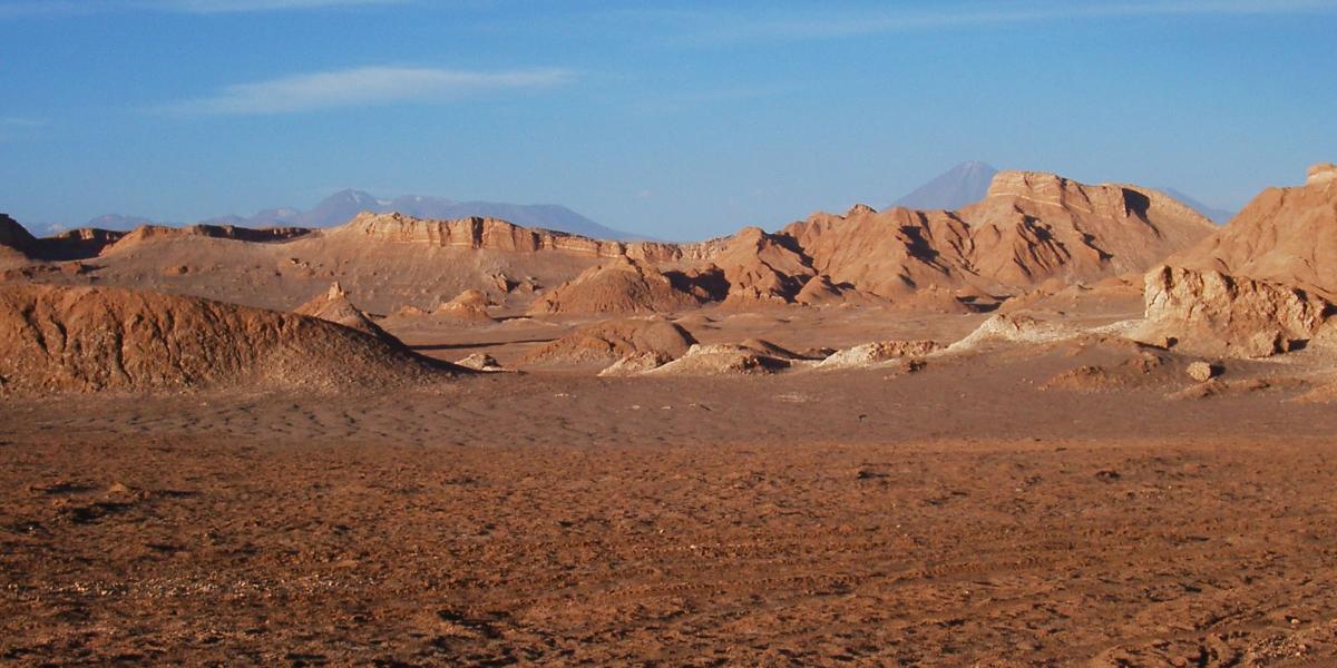
[[[1029,1],[939,3],[928,8],[841,9],[824,5],[797,12],[769,12],[766,19],[707,9],[690,19],[675,41],[747,41],[783,39],[836,39],[890,32],[1020,24],[1052,20],[1096,20],[1154,16],[1247,16],[1290,13],[1337,13],[1333,0],[1166,0],[1166,1]],[[682,15],[679,15],[682,17]],[[671,20],[671,19],[668,19]]]

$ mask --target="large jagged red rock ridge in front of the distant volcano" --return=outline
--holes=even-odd
[[[858,206],[783,235],[833,285],[894,302],[929,287],[1009,293],[1140,273],[1214,230],[1157,191],[1000,172],[988,196],[960,212]]]

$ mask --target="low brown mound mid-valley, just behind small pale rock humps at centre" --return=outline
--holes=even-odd
[[[626,318],[596,322],[545,343],[524,362],[574,365],[608,362],[635,353],[659,353],[677,358],[697,343],[691,333],[663,318]]]

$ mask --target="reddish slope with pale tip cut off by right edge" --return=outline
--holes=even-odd
[[[1294,286],[1337,302],[1337,178],[1310,170],[1304,187],[1267,188],[1229,226],[1165,261],[1174,267]]]

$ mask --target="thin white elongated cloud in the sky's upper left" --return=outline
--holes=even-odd
[[[493,92],[525,92],[575,80],[568,69],[476,72],[427,67],[358,67],[227,86],[213,95],[159,107],[176,115],[267,115],[432,103]]]

